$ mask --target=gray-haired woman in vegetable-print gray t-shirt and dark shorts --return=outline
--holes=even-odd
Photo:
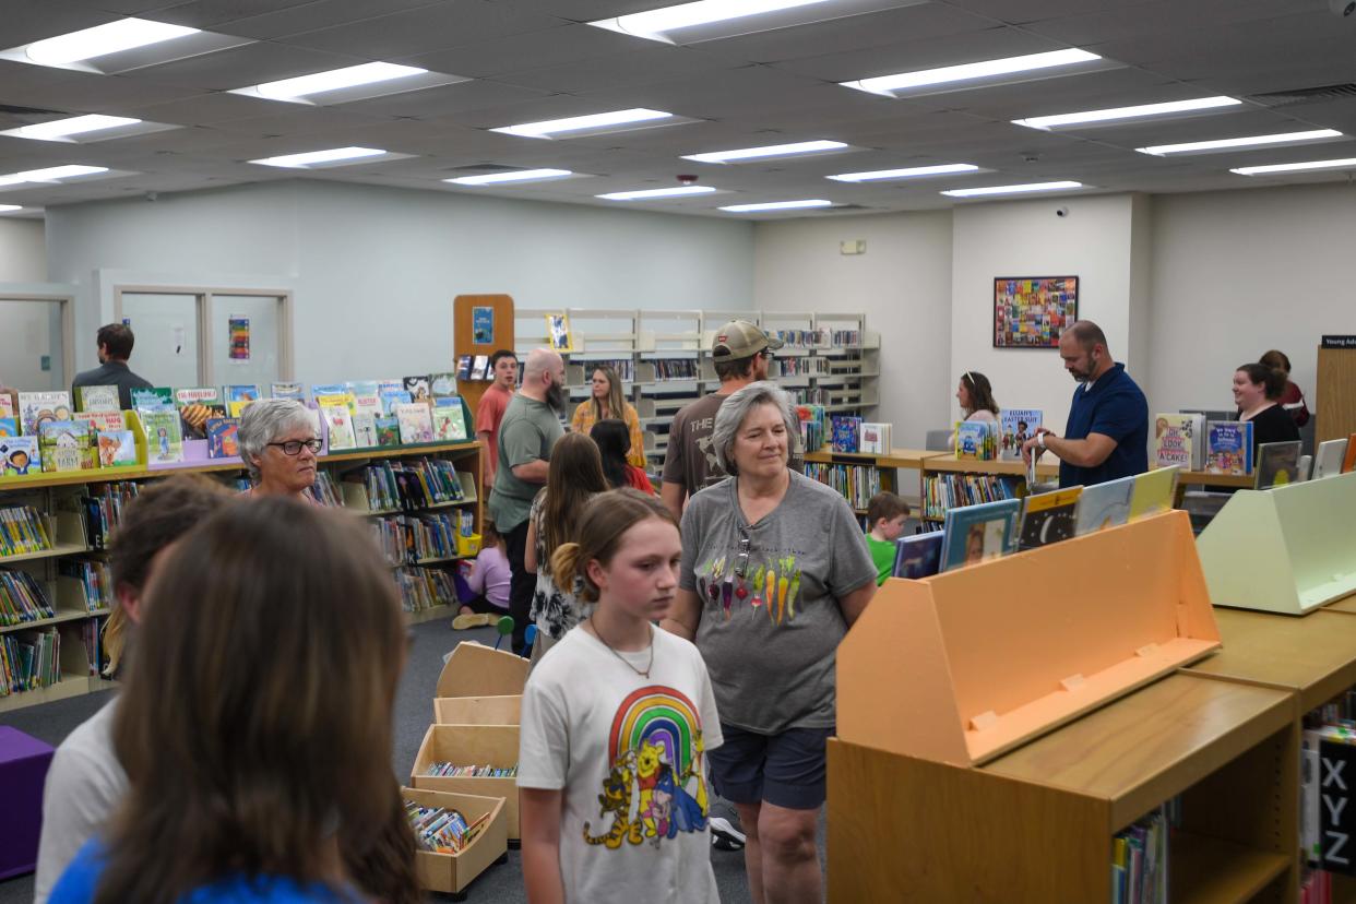
[[[754,901],[819,901],[815,846],[834,731],[834,656],[876,592],[848,501],[786,468],[799,424],[761,381],[716,413],[712,451],[730,477],[682,516],[678,592],[663,626],[697,644],[725,743],[709,751],[747,834]]]

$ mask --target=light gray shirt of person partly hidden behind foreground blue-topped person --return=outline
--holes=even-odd
[[[127,774],[113,752],[114,698],[57,747],[42,790],[42,836],[34,904],[46,904],[76,852],[98,834],[127,794]]]

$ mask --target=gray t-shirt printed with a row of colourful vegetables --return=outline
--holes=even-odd
[[[834,657],[848,633],[838,598],[876,580],[848,501],[791,472],[781,504],[749,525],[730,477],[692,497],[682,535],[678,585],[702,603],[697,649],[720,721],[762,735],[833,728]]]

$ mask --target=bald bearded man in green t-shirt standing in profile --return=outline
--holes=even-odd
[[[537,576],[523,567],[527,549],[527,512],[537,491],[546,485],[551,447],[564,436],[560,412],[565,407],[565,362],[549,348],[527,355],[522,386],[509,401],[499,423],[499,469],[490,492],[490,518],[504,538],[509,568],[509,614],[513,615],[513,648],[523,646],[527,611]]]

